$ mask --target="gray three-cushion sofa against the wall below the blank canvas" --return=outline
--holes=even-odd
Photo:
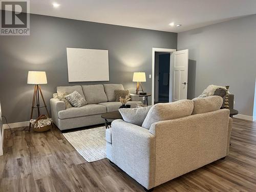
[[[65,102],[56,98],[50,99],[53,123],[60,130],[104,123],[105,121],[101,118],[101,114],[117,111],[121,106],[120,102],[115,101],[114,90],[124,89],[122,84],[57,87],[57,93],[53,97],[77,91],[86,99],[88,104],[80,108],[72,107],[66,109]],[[135,108],[138,103],[141,103],[138,95],[131,94],[131,101],[126,104],[130,104],[131,108]]]

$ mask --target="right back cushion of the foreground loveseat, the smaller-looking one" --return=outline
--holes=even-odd
[[[194,102],[194,110],[192,114],[219,110],[223,102],[223,99],[220,96],[197,97],[192,100]]]

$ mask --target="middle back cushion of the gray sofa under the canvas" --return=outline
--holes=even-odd
[[[90,86],[82,86],[82,91],[86,97],[86,101],[89,104],[98,104],[101,102],[108,101],[106,94],[104,92],[104,87],[102,84],[93,84]]]

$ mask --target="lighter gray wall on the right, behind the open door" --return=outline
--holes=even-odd
[[[256,77],[256,15],[178,33],[189,49],[188,98],[209,84],[229,85],[240,114],[252,116]]]

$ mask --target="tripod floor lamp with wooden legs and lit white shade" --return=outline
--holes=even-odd
[[[44,99],[44,96],[42,95],[41,87],[40,84],[47,84],[47,77],[46,77],[46,72],[45,71],[29,71],[28,73],[28,84],[34,84],[34,94],[33,94],[33,100],[32,100],[32,107],[31,107],[31,113],[30,113],[30,119],[33,118],[33,112],[34,109],[37,110],[37,115],[38,117],[41,115],[40,114],[40,108],[45,108],[48,117],[50,117],[46,102]],[[39,102],[39,94],[41,95],[42,101],[44,102],[43,106],[40,106]],[[36,102],[36,105],[35,105]],[[31,129],[31,123],[29,123],[29,131]]]

